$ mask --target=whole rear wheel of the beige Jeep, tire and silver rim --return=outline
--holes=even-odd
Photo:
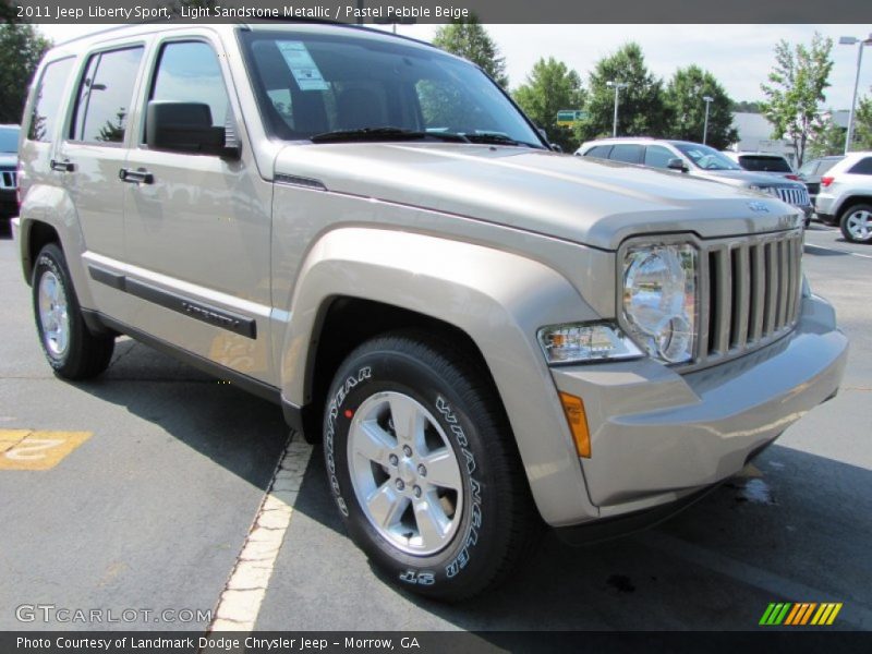
[[[55,243],[43,247],[36,258],[33,302],[39,343],[59,377],[87,379],[107,368],[116,339],[88,330],[63,251]]]

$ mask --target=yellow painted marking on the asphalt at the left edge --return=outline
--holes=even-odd
[[[0,429],[0,470],[49,470],[90,436],[90,432]]]

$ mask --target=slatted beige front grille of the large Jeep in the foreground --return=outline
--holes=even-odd
[[[703,245],[693,367],[739,356],[790,331],[800,310],[802,232]]]

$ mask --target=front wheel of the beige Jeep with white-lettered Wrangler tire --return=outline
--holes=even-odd
[[[334,378],[324,448],[352,540],[395,583],[461,600],[505,579],[537,518],[493,385],[446,343],[374,339]]]

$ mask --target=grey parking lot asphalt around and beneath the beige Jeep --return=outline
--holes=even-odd
[[[770,602],[840,602],[831,629],[872,629],[872,247],[813,225],[804,269],[851,340],[843,389],[742,475],[635,535],[573,548],[548,533],[509,583],[445,605],[387,584],[351,544],[316,447],[256,628],[748,630]],[[70,443],[48,470],[0,467],[0,630],[205,629],[196,611],[218,603],[286,446],[280,411],[129,339],[101,378],[58,380],[9,240],[0,292],[0,452],[2,434],[32,452]],[[46,604],[195,615],[21,621]]]

